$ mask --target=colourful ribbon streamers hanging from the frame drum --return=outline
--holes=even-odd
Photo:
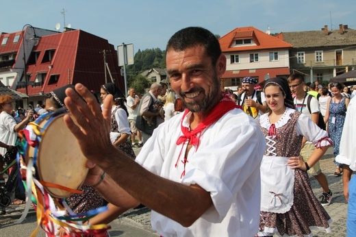
[[[43,114],[35,122],[29,123],[26,129],[18,133],[17,162],[21,167],[21,176],[26,180],[24,182],[26,206],[21,218],[16,223],[21,223],[25,219],[32,203],[36,209],[38,225],[31,236],[36,236],[40,227],[46,232],[47,236],[57,236],[60,227],[65,229],[65,236],[105,236],[107,229],[110,229],[109,225],[86,225],[84,222],[101,212],[105,212],[107,207],[90,210],[84,214],[75,214],[64,199],[53,199],[44,187],[60,188],[73,193],[80,193],[81,191],[38,180],[36,178],[36,152],[34,157],[25,160],[27,146],[31,145],[38,149],[45,128],[51,119],[57,115],[58,113]],[[48,119],[49,122],[44,127],[39,127],[38,124],[43,119]]]

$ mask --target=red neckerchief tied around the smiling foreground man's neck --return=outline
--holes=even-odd
[[[198,127],[196,127],[192,131],[190,131],[188,127],[183,126],[183,118],[185,118],[189,112],[189,110],[186,109],[184,111],[183,118],[181,119],[181,132],[183,132],[183,135],[178,138],[177,145],[181,145],[181,143],[186,142],[188,140],[191,145],[199,146],[199,138],[197,137],[197,135],[200,134],[205,128],[218,121],[219,118],[221,118],[224,114],[234,108],[242,110],[242,107],[240,105],[236,105],[236,103],[229,99],[229,97],[223,97],[223,99],[219,101],[219,103],[209,112],[209,114],[203,119],[203,121],[199,123]]]

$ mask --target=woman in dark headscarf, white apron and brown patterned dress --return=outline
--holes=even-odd
[[[316,199],[307,170],[329,145],[327,132],[294,110],[288,82],[268,79],[264,86],[269,112],[259,118],[266,137],[261,164],[261,214],[257,236],[312,236],[311,227],[331,232],[329,214]],[[303,136],[315,149],[307,162],[299,159]]]

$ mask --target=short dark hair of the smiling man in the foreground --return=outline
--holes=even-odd
[[[207,55],[212,58],[212,63],[215,65],[221,55],[219,41],[212,32],[202,27],[186,27],[176,32],[170,40],[168,40],[166,53],[170,49],[183,51],[184,49],[197,45],[201,45],[205,48]]]

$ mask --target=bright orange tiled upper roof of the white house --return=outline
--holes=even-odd
[[[246,46],[243,47],[231,47],[233,40],[236,39],[253,39],[256,45]],[[225,52],[232,52],[232,51],[254,51],[258,50],[261,51],[262,49],[290,49],[292,45],[266,34],[265,32],[256,29],[255,27],[240,27],[233,29],[231,32],[226,34],[225,36],[219,38],[221,50]]]

